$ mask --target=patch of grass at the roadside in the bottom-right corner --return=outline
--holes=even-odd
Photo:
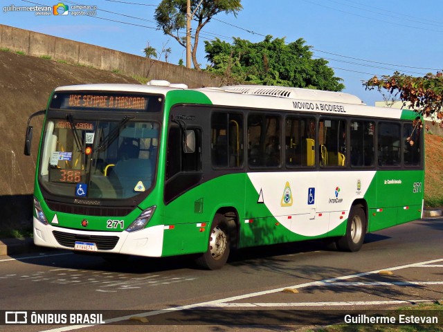
[[[386,311],[385,317],[395,317],[399,321],[399,315],[405,317],[437,317],[437,324],[334,324],[323,326],[316,329],[308,329],[307,332],[443,332],[443,305],[442,301],[432,304],[418,304],[415,306],[404,306],[395,310]],[[319,312],[320,314],[320,312]],[[364,311],[352,314],[353,316],[362,315]],[[371,317],[372,315],[368,315]]]

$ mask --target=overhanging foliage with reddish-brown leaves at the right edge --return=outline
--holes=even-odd
[[[404,107],[412,107],[424,116],[443,119],[443,73],[428,73],[424,77],[413,77],[398,71],[392,75],[374,76],[363,82],[366,89],[386,89],[399,95]],[[409,106],[410,105],[410,106]],[[443,127],[443,121],[440,122]]]

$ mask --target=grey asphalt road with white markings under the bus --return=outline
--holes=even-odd
[[[327,317],[331,310],[358,313],[443,299],[442,236],[443,218],[423,219],[368,234],[359,252],[327,250],[319,241],[289,243],[239,250],[217,271],[197,269],[191,257],[131,257],[125,265],[64,251],[0,257],[0,311],[89,311],[123,324],[84,331],[244,331],[254,324],[276,331],[269,327],[275,322],[292,331],[325,323],[316,320],[320,311]]]

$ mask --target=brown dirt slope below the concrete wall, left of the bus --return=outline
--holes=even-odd
[[[110,71],[0,51],[0,230],[7,223],[29,220],[31,216],[35,159],[43,119],[34,118],[31,123],[33,155],[26,157],[23,151],[28,117],[46,108],[55,87],[88,83],[138,81]]]

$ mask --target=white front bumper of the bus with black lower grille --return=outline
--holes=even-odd
[[[161,257],[163,251],[164,225],[156,225],[136,232],[95,232],[71,230],[44,225],[34,217],[34,243],[60,249],[75,250],[75,242],[94,243],[93,252],[137,255],[144,257]]]

